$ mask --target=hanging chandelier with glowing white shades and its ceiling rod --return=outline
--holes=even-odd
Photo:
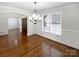
[[[37,2],[34,2],[34,6],[35,6],[34,14],[29,18],[30,22],[34,24],[37,24],[37,22],[41,21],[40,15],[37,14],[36,5],[37,5]]]

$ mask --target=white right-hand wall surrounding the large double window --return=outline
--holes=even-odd
[[[63,7],[39,11],[44,14],[63,13],[62,36],[57,36],[42,31],[42,22],[36,25],[36,33],[51,40],[79,49],[79,3],[72,3]]]

